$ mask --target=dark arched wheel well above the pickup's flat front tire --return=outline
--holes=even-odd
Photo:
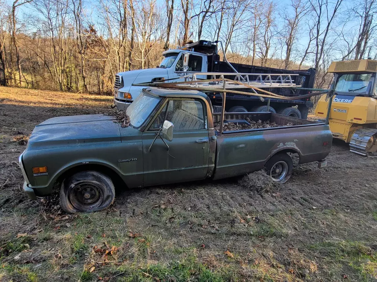
[[[54,183],[54,186],[57,183],[61,183],[67,176],[72,175],[74,173],[78,173],[80,171],[84,170],[95,170],[95,171],[100,171],[101,173],[106,174],[109,176],[115,186],[123,185],[126,186],[126,183],[124,183],[123,179],[119,176],[118,173],[116,173],[114,170],[112,170],[109,167],[106,167],[105,165],[100,165],[100,164],[85,164],[85,165],[77,165],[75,167],[69,168],[68,170],[64,171],[60,176],[58,176],[57,180]]]

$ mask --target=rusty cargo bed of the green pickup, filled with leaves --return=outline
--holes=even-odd
[[[213,114],[214,122],[221,114]],[[299,155],[299,162],[324,159],[330,152],[332,135],[328,125],[270,112],[225,113],[224,120],[275,122],[281,126],[216,132],[215,179],[250,173],[264,167],[279,152]],[[288,125],[288,126],[287,126]]]

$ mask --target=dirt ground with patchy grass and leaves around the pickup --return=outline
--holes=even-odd
[[[276,187],[253,174],[120,188],[73,215],[57,191],[28,199],[18,156],[34,126],[111,101],[0,87],[0,281],[377,281],[377,158],[341,142],[328,167],[296,164]]]

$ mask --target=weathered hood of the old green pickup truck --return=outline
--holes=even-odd
[[[121,143],[118,123],[107,115],[50,118],[35,126],[29,150],[92,144]]]

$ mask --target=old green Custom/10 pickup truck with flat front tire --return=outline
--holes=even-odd
[[[130,125],[107,115],[55,117],[35,126],[19,163],[31,199],[61,183],[67,212],[112,204],[114,183],[126,188],[239,176],[265,168],[284,183],[297,153],[300,163],[330,152],[328,125],[274,114],[225,113],[224,123],[267,121],[278,127],[224,131],[214,123],[207,95],[192,90],[146,88],[127,108]],[[246,122],[246,121],[245,121]]]

